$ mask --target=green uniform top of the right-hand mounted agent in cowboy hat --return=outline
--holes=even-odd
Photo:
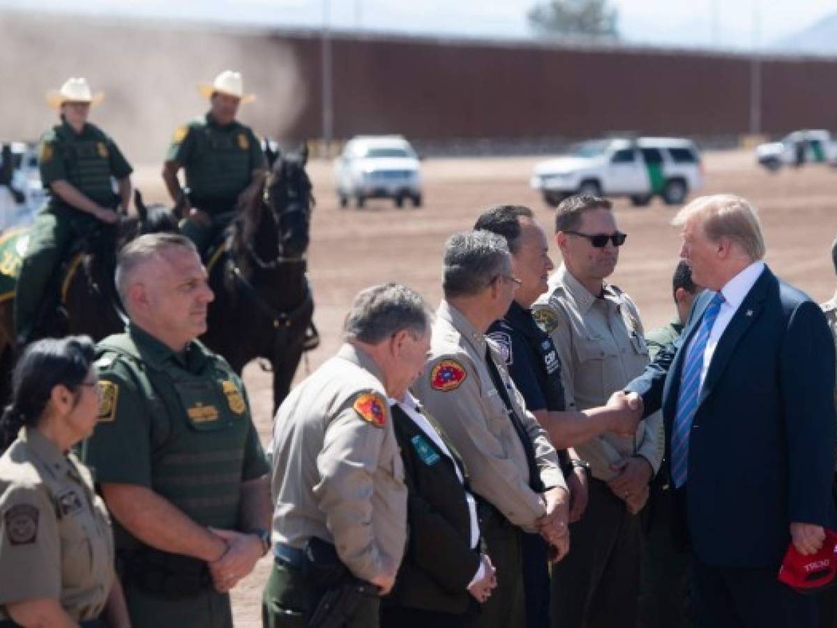
[[[193,207],[213,220],[209,227],[188,220],[180,225],[182,234],[202,252],[232,220],[239,194],[249,186],[253,172],[267,167],[261,142],[249,126],[238,121],[222,126],[209,113],[177,127],[166,160],[184,167]]]

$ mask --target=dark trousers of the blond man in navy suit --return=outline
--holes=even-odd
[[[773,569],[711,567],[692,561],[698,628],[816,628],[816,597],[801,595]]]

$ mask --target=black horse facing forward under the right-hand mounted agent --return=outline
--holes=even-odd
[[[285,399],[302,353],[316,347],[314,301],[306,278],[314,197],[308,152],[265,151],[270,171],[239,203],[223,249],[208,260],[208,332],[202,340],[238,372],[254,358],[273,371],[275,408]]]

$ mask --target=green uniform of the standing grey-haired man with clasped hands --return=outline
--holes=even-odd
[[[202,526],[239,529],[241,484],[270,471],[244,385],[201,342],[173,352],[133,323],[97,346],[99,423],[87,461],[103,483],[146,486]],[[150,548],[116,522],[134,628],[229,628],[229,595],[199,559]]]

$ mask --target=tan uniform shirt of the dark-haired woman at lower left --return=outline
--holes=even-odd
[[[90,471],[23,428],[0,457],[0,618],[9,602],[47,598],[74,620],[94,619],[113,565],[110,518]]]

